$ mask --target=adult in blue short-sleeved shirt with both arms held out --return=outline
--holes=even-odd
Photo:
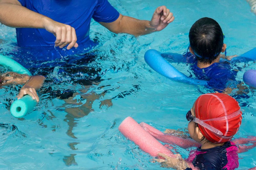
[[[174,20],[165,6],[146,21],[119,14],[107,0],[0,0],[0,22],[17,28],[18,46],[78,47],[89,40],[91,18],[133,35],[161,31]]]

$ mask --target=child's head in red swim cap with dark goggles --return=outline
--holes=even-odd
[[[188,111],[190,136],[201,142],[206,138],[213,143],[229,141],[238,131],[242,112],[238,102],[222,93],[203,94]],[[201,136],[200,136],[201,135]]]

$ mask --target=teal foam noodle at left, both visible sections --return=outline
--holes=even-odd
[[[13,72],[19,74],[28,74],[31,75],[28,69],[24,68],[18,62],[14,61],[13,59],[0,55],[0,65],[4,67],[8,67]],[[22,117],[29,113],[34,107],[36,106],[36,100],[29,95],[23,96],[19,100],[15,100],[11,107],[10,112],[14,117]]]

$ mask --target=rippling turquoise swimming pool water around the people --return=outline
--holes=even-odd
[[[200,94],[210,90],[157,74],[145,63],[145,51],[182,54],[188,46],[189,28],[201,17],[214,18],[220,24],[228,55],[256,47],[255,15],[244,0],[110,3],[123,15],[147,20],[157,6],[166,5],[175,21],[161,32],[140,37],[115,35],[93,21],[90,35],[98,46],[82,55],[61,55],[54,62],[32,61],[31,56],[45,51],[26,53],[16,47],[14,29],[0,28],[0,53],[22,51],[19,55],[26,56],[24,64],[33,66],[30,71],[47,76],[39,91],[40,102],[24,118],[16,119],[9,113],[18,89],[0,89],[1,169],[160,169],[159,164],[149,161],[150,155],[118,131],[119,124],[131,116],[161,131],[187,127],[187,110]],[[174,66],[190,75],[186,64]],[[241,81],[243,72],[256,69],[256,64],[250,61],[236,67],[241,70],[237,75]],[[235,137],[255,135],[255,91],[249,90],[248,96],[238,99],[243,120]],[[177,149],[188,156],[187,150]],[[238,169],[256,166],[254,152],[255,148],[239,154]]]

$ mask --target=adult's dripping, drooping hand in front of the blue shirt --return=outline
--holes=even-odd
[[[76,31],[70,25],[56,22],[50,18],[45,18],[43,25],[46,31],[52,33],[56,37],[56,47],[63,48],[68,45],[68,50],[72,47],[78,47]]]

